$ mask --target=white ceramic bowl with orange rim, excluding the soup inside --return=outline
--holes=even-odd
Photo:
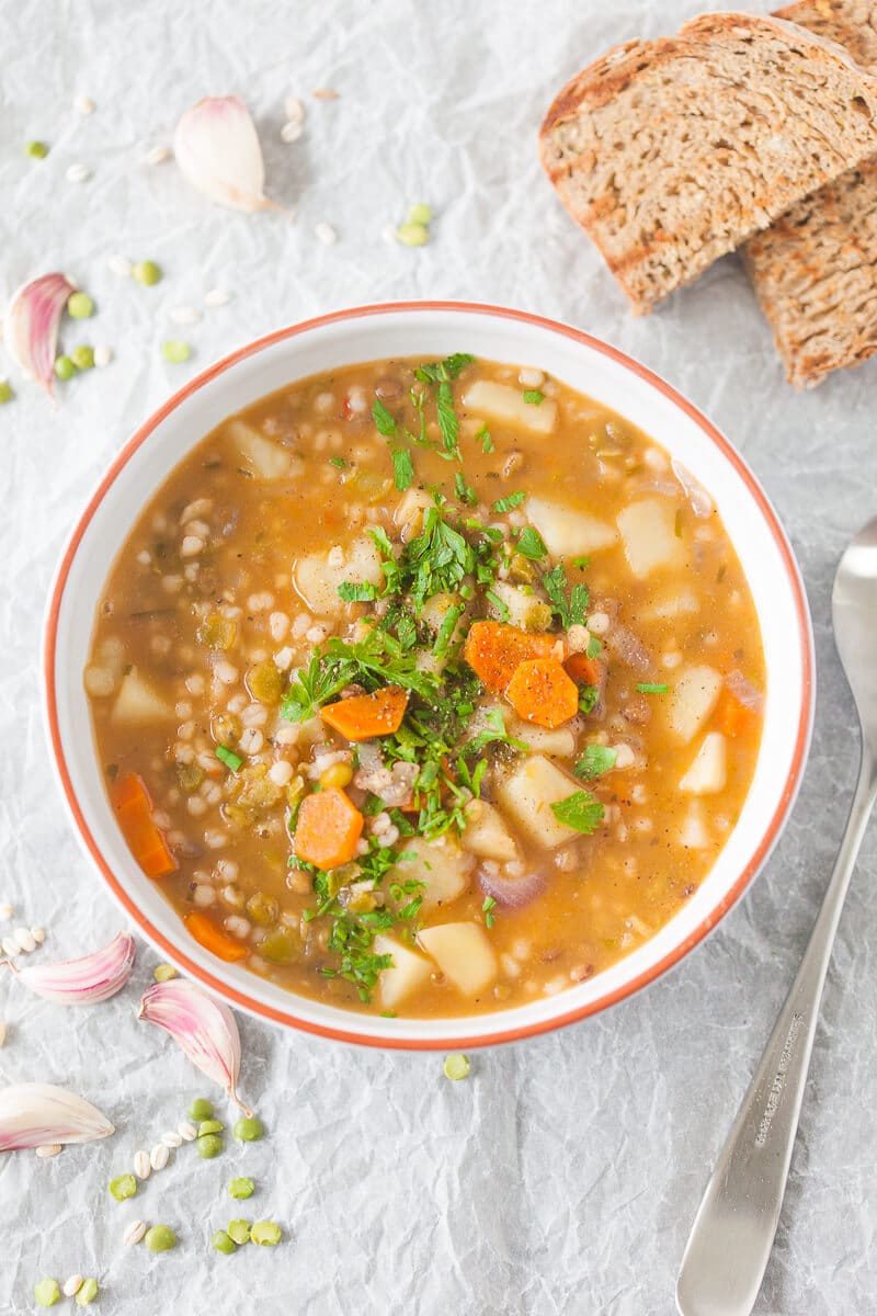
[[[118,832],[95,753],[82,672],[107,570],[168,472],[225,416],[264,393],[358,361],[451,351],[539,367],[640,425],[715,497],[761,622],[768,692],[761,750],[740,820],[707,878],[656,937],[586,983],[469,1019],[381,1019],[295,996],[221,963],[191,940]],[[801,576],[773,508],[740,457],[673,388],[614,347],[518,311],[458,303],[363,307],[293,325],[233,353],[171,397],[116,458],[76,525],[49,601],[45,708],[74,825],[109,888],[163,955],[226,1000],[293,1028],[373,1046],[473,1048],[542,1033],[652,982],[715,926],[764,863],[803,771],[814,700]]]

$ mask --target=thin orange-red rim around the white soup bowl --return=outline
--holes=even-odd
[[[798,619],[799,638],[801,638],[801,666],[802,666],[802,700],[801,700],[801,713],[798,719],[798,732],[795,737],[794,753],[792,758],[792,766],[786,778],[786,783],[774,809],[774,813],[764,832],[764,836],[755,848],[748,863],[740,873],[739,878],[734,886],[722,896],[722,899],[710,909],[707,916],[698,924],[698,926],[685,937],[677,946],[664,955],[656,965],[646,969],[636,978],[630,979],[613,991],[605,992],[594,1000],[588,1001],[584,1005],[577,1005],[573,1009],[564,1011],[557,1015],[552,1015],[550,1019],[538,1020],[533,1024],[523,1024],[517,1028],[497,1028],[496,1032],[486,1034],[476,1034],[473,1037],[450,1037],[450,1038],[394,1038],[394,1037],[379,1037],[369,1034],[367,1032],[348,1032],[344,1028],[333,1028],[325,1024],[312,1023],[306,1019],[300,1019],[297,1015],[276,1009],[272,1005],[267,1005],[262,1001],[254,1000],[246,992],[239,991],[221,978],[214,976],[212,973],[202,969],[200,965],[195,963],[185,951],[168,940],[163,933],[160,933],[142,911],[137,907],[131,896],[125,891],[124,886],[116,878],[113,870],[110,869],[108,861],[104,858],[100,846],[97,845],[95,837],[92,836],[88,824],[83,816],[76,799],[76,792],[67,769],[67,762],[64,758],[63,745],[60,740],[60,729],[58,724],[58,701],[55,690],[55,650],[58,640],[58,619],[60,613],[60,604],[64,594],[64,587],[70,576],[70,570],[79,549],[79,545],[88,529],[97,508],[103,503],[108,491],[112,488],[120,471],[125,468],[128,462],[131,459],[134,453],[141,447],[142,443],[150,437],[153,430],[155,430],[162,421],[175,411],[185,399],[191,397],[192,393],[197,392],[210,380],[216,379],[218,375],[225,374],[238,362],[245,361],[247,357],[255,355],[263,351],[266,347],[271,347],[275,343],[284,342],[287,338],[295,338],[298,334],[309,333],[312,329],[320,329],[325,325],[338,324],[342,321],[360,320],[368,316],[380,315],[398,315],[408,312],[460,312],[467,315],[480,315],[500,320],[513,320],[521,324],[531,325],[538,329],[547,329],[555,334],[560,334],[564,338],[569,338],[573,342],[579,342],[592,351],[597,351],[604,357],[609,357],[610,361],[617,362],[623,366],[631,374],[638,375],[646,383],[651,384],[665,397],[668,397],[676,407],[678,407],[686,416],[693,420],[701,432],[714,443],[723,457],[734,466],[738,475],[749,491],[751,497],[759,507],[761,516],[767,521],[773,540],[780,551],[780,557],[786,569],[789,584],[794,596],[795,612]],[[284,1024],[287,1026],[297,1028],[305,1033],[312,1033],[320,1037],[329,1037],[334,1041],[352,1042],[359,1046],[381,1046],[391,1048],[394,1050],[448,1050],[451,1048],[480,1048],[480,1046],[497,1046],[504,1042],[522,1041],[526,1037],[535,1037],[540,1033],[554,1032],[557,1028],[564,1028],[567,1024],[575,1024],[579,1020],[586,1019],[589,1015],[597,1015],[610,1005],[618,1004],[618,1001],[625,1000],[627,996],[632,996],[634,992],[640,991],[650,983],[655,982],[663,974],[665,974],[673,965],[678,963],[684,955],[686,955],[694,946],[711,932],[717,924],[724,917],[728,909],[739,900],[748,884],[755,878],[756,873],[761,867],[767,855],[772,850],[782,825],[792,809],[797,790],[801,782],[805,758],[807,753],[807,745],[810,740],[810,729],[813,722],[813,697],[814,697],[814,658],[811,647],[811,630],[810,630],[810,613],[806,604],[806,597],[803,592],[803,586],[801,582],[801,575],[798,572],[797,563],[792,554],[792,549],[786,540],[786,536],[780,525],[780,521],[773,511],[773,507],[768,501],[765,494],[759,486],[757,480],[749,471],[746,462],[735,451],[735,449],[728,443],[728,441],[715,429],[714,425],[694,407],[686,397],[678,393],[671,387],[664,379],[653,374],[646,366],[639,362],[632,361],[623,351],[617,347],[609,346],[609,343],[601,342],[601,340],[584,333],[580,329],[575,329],[571,325],[560,324],[555,320],[548,320],[544,316],[531,315],[527,311],[514,311],[505,307],[492,307],[483,303],[468,303],[468,301],[388,301],[383,304],[366,305],[366,307],[352,307],[346,311],[333,311],[329,315],[316,316],[312,320],[305,320],[300,324],[289,325],[285,329],[277,329],[273,333],[264,334],[262,338],[256,338],[254,342],[247,343],[245,347],[239,347],[230,355],[224,357],[214,365],[209,366],[195,379],[189,380],[179,392],[174,393],[163,407],[159,407],[156,412],[150,416],[150,418],[141,425],[141,428],[131,436],[131,438],[121,449],[118,457],[112,462],[109,470],[104,475],[103,480],[97,486],[95,494],[88,501],[85,511],[80,516],[76,526],[70,537],[70,541],[64,549],[60,565],[58,567],[58,574],[53,586],[51,596],[49,600],[49,608],[46,613],[45,633],[43,633],[43,679],[45,679],[45,701],[46,701],[46,719],[49,728],[49,738],[51,744],[51,750],[55,759],[55,770],[60,780],[62,791],[64,794],[67,807],[79,830],[80,840],[83,841],[87,851],[97,865],[100,873],[103,874],[105,882],[108,883],[110,891],[125,908],[129,917],[139,926],[143,934],[147,937],[153,945],[159,946],[170,959],[175,963],[183,966],[187,973],[201,982],[205,987],[217,992],[220,996],[231,1001],[235,1005],[249,1011],[262,1019],[268,1019],[277,1024]],[[292,995],[292,994],[291,994]]]

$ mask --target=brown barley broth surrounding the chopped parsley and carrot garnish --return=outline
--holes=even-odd
[[[154,821],[178,863],[176,871],[156,880],[180,916],[200,911],[225,942],[239,948],[247,967],[291,991],[351,1009],[387,1011],[380,980],[371,1003],[364,1003],[356,984],[323,975],[339,967],[338,954],[327,948],[331,924],[327,916],[305,919],[317,904],[312,874],[289,867],[287,815],[291,800],[300,799],[297,786],[313,784],[308,774],[320,757],[316,749],[325,750],[322,770],[335,761],[343,775],[350,746],[320,719],[284,720],[276,695],[323,638],[346,637],[356,628],[364,634],[362,619],[376,607],[337,601],[335,578],[339,572],[350,578],[350,567],[335,566],[335,559],[352,541],[371,545],[369,528],[383,528],[398,551],[400,507],[412,508],[405,530],[410,540],[422,519],[413,494],[440,486],[459,507],[458,471],[476,497],[476,505],[462,507],[463,517],[501,528],[505,542],[529,524],[533,500],[534,507],[548,500],[569,509],[580,519],[581,517],[596,519],[604,528],[593,530],[597,538],[606,526],[615,530],[619,513],[623,524],[625,509],[646,507],[647,513],[635,513],[644,519],[644,532],[634,525],[630,538],[618,536],[592,550],[584,570],[573,565],[575,553],[564,555],[569,584],[585,582],[590,590],[586,617],[592,638],[602,645],[597,661],[605,665],[605,690],[590,715],[543,730],[542,738],[550,738],[548,758],[565,772],[589,744],[618,751],[614,770],[593,780],[569,779],[571,792],[584,788],[602,803],[602,821],[590,836],[571,833],[556,848],[546,848],[513,815],[502,813],[500,783],[521,758],[485,750],[483,790],[500,808],[517,850],[508,873],[504,861],[494,861],[496,871],[486,861],[488,886],[490,876],[506,883],[539,879],[542,890],[519,908],[497,903],[485,911],[484,857],[472,861],[467,851],[460,855],[456,840],[450,845],[451,867],[471,865],[463,891],[419,919],[398,923],[392,936],[402,945],[408,937],[408,949],[419,955],[418,924],[427,929],[469,924],[480,929],[479,942],[488,944],[494,973],[485,970],[484,982],[462,990],[454,973],[427,959],[419,986],[393,1001],[397,1013],[421,1017],[502,1009],[555,994],[653,936],[714,863],[755,770],[760,717],[740,705],[723,682],[743,674],[759,691],[765,674],[752,597],[721,520],[715,512],[694,515],[667,454],[648,436],[551,379],[539,383],[544,400],[525,407],[523,424],[504,421],[483,401],[467,404],[471,388],[500,383],[519,397],[536,376],[523,371],[525,384],[518,367],[479,361],[452,384],[460,466],[440,453],[431,386],[425,388],[426,438],[439,446],[401,437],[402,425],[419,434],[409,396],[412,387],[421,387],[415,365],[375,362],[298,382],[197,443],[145,507],[113,563],[85,686],[108,788],[112,794],[128,774],[145,783]],[[394,437],[375,426],[376,396],[396,420]],[[539,424],[546,424],[550,411],[542,408],[552,407],[551,432],[535,433],[531,417],[540,413]],[[489,442],[483,436],[485,422]],[[393,447],[413,459],[415,483],[406,492],[393,484]],[[497,500],[519,491],[526,499],[518,507],[493,511]],[[569,529],[564,521],[551,534],[544,513],[534,512],[534,521],[552,542]],[[640,551],[660,559],[657,540],[664,558],[636,575],[630,544],[643,533]],[[323,563],[309,572],[302,559],[321,554]],[[534,570],[515,559],[515,571],[534,572],[530,599],[542,601],[539,578],[557,561],[551,555]],[[312,603],[316,591],[316,608],[305,605],[293,578]],[[476,609],[485,607],[479,599],[476,594]],[[581,641],[577,632],[568,638]],[[227,649],[217,647],[225,642]],[[680,717],[686,709],[693,713],[681,691],[692,670],[701,672],[693,684],[694,695],[699,690],[703,697],[697,729],[686,737]],[[711,680],[705,671],[715,674],[713,695],[703,692]],[[669,690],[640,692],[638,683]],[[522,729],[501,696],[483,695],[479,703],[505,708],[514,737],[539,738],[540,729],[529,724]],[[677,704],[685,704],[680,713],[673,712]],[[473,717],[477,721],[479,713]],[[707,794],[684,791],[680,780],[710,734],[721,737],[724,779],[713,782]],[[229,771],[217,759],[217,744],[241,757],[241,771]],[[715,749],[718,741],[711,745]],[[718,771],[715,762],[710,770]],[[362,804],[366,794],[355,779],[348,788]],[[408,816],[417,821],[417,813]],[[373,825],[366,819],[366,836]],[[459,829],[447,834],[458,837]],[[400,838],[396,851],[406,845]],[[442,845],[447,850],[448,842]],[[343,890],[348,887],[350,874]],[[383,896],[387,908],[393,901],[384,887],[379,901]],[[283,953],[293,948],[295,962],[270,962],[263,950],[272,946]],[[480,955],[476,950],[476,963]],[[468,953],[462,958],[473,962]]]

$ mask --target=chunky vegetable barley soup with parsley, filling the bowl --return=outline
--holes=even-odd
[[[383,1015],[519,1005],[652,937],[761,734],[709,494],[542,371],[381,361],[199,442],[84,674],[134,858],[214,955]]]

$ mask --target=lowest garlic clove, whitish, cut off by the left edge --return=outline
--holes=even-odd
[[[0,1088],[0,1152],[53,1142],[93,1142],[116,1129],[105,1115],[54,1083],[13,1083]]]

